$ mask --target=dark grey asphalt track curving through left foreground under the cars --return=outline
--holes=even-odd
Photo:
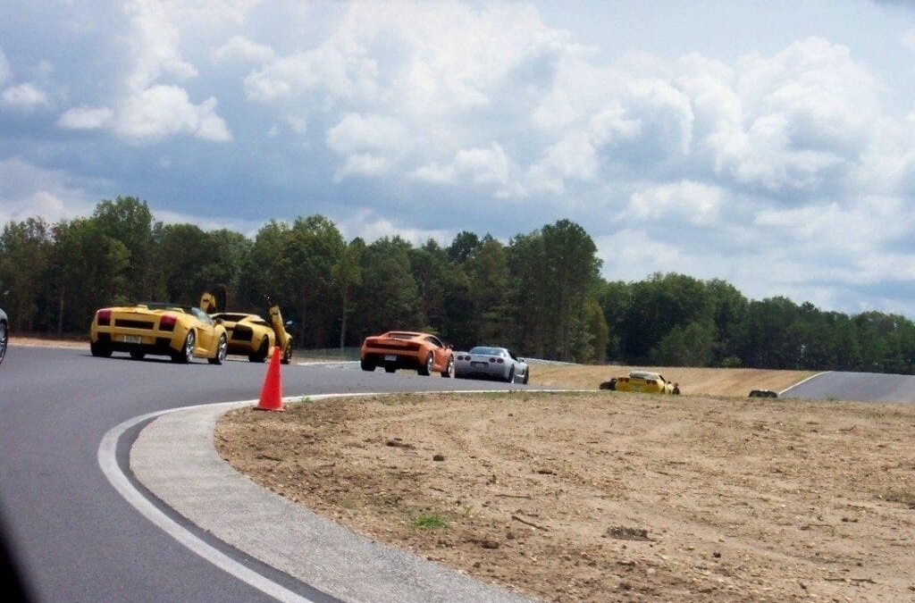
[[[0,367],[0,512],[5,544],[36,601],[264,601],[261,591],[178,544],[113,489],[99,467],[102,437],[127,419],[190,404],[258,397],[266,364],[213,366],[89,350],[10,347]],[[508,389],[507,383],[363,372],[358,366],[283,367],[284,396]],[[521,385],[511,385],[521,388]],[[143,425],[118,442],[127,455]],[[145,490],[135,482],[135,487]],[[216,540],[159,505],[208,544],[314,601],[334,600]]]

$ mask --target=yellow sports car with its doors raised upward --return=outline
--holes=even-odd
[[[269,303],[269,302],[268,302]],[[212,312],[217,307],[215,296],[205,293],[200,297],[200,307]],[[283,322],[283,315],[277,304],[268,309],[270,322],[257,314],[243,312],[216,312],[210,318],[221,322],[229,336],[229,353],[247,356],[249,361],[263,362],[273,358],[274,347],[282,350],[280,362],[288,364],[292,358],[292,335],[286,327],[292,322]]]

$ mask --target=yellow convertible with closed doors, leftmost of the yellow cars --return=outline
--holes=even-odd
[[[229,336],[199,307],[145,302],[97,310],[90,350],[92,356],[102,358],[125,351],[134,360],[152,354],[170,356],[175,362],[206,358],[210,364],[222,364],[229,352]]]

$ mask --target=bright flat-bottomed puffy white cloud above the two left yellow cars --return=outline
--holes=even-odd
[[[115,131],[135,142],[156,142],[168,135],[189,134],[228,142],[231,133],[215,112],[216,99],[199,104],[177,86],[156,85],[132,95],[118,109]]]

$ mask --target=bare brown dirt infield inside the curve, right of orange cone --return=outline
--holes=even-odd
[[[534,598],[915,600],[912,405],[400,394],[243,409],[214,438],[264,487]]]

